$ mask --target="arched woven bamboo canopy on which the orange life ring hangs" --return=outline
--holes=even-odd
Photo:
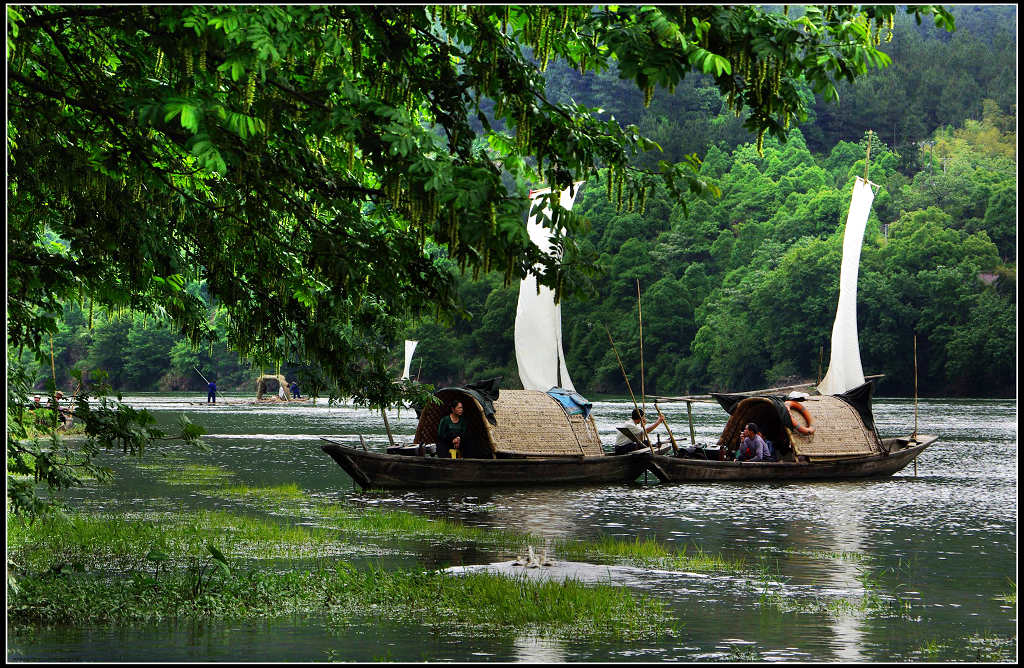
[[[882,444],[874,429],[864,425],[860,414],[838,396],[808,396],[804,408],[814,420],[814,432],[803,434],[779,417],[777,404],[767,396],[751,396],[739,402],[722,430],[719,446],[735,446],[748,422],[754,422],[771,441],[783,460],[806,456],[811,461],[876,454]],[[801,426],[803,419],[794,418]]]

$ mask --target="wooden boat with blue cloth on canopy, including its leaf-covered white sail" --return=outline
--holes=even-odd
[[[531,193],[534,198],[545,192]],[[572,206],[562,193],[560,205]],[[548,212],[550,216],[550,211]],[[537,228],[541,232],[538,233]],[[530,238],[544,248],[544,228],[529,216]],[[547,249],[546,249],[547,250]],[[546,289],[545,289],[546,290]],[[572,389],[562,354],[561,324],[550,291],[524,281],[516,314],[516,358],[525,389],[499,389],[497,381],[445,387],[420,411],[413,443],[388,454],[337,443],[322,446],[362,487],[461,487],[525,484],[610,483],[635,479],[649,452],[607,455],[591,405]],[[461,457],[427,456],[437,426],[458,400],[466,432]],[[454,452],[454,451],[453,451]]]

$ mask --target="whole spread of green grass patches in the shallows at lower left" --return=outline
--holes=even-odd
[[[225,486],[218,494],[255,506],[272,505],[284,510],[284,517],[221,510],[144,516],[74,513],[31,523],[8,516],[14,575],[8,589],[9,623],[105,625],[323,614],[343,621],[372,612],[438,630],[451,629],[451,620],[458,619],[473,620],[473,632],[530,630],[621,639],[664,636],[680,625],[664,603],[626,587],[479,573],[456,577],[421,568],[356,568],[338,556],[358,552],[368,542],[385,551],[399,538],[502,549],[540,544],[525,534],[329,504],[295,488]],[[317,517],[316,526],[295,524],[290,515],[300,508]],[[572,547],[574,555],[637,551],[632,543],[615,547],[614,541],[559,545]],[[664,550],[652,551],[649,544],[643,551],[665,558]],[[636,558],[646,557],[637,552]]]

